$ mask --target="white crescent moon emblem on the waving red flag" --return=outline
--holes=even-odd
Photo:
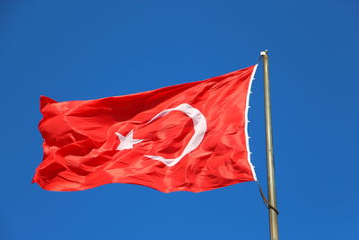
[[[156,120],[160,117],[167,115],[171,111],[182,111],[183,113],[187,114],[187,116],[193,120],[193,128],[195,129],[195,134],[189,140],[188,145],[185,147],[185,149],[183,150],[183,152],[181,153],[181,155],[179,157],[167,159],[162,156],[145,155],[146,157],[149,157],[153,160],[160,161],[163,164],[166,164],[167,166],[173,166],[173,165],[177,164],[178,162],[180,162],[180,160],[184,156],[188,155],[188,153],[195,150],[199,146],[199,144],[202,142],[203,137],[205,136],[205,133],[206,133],[206,129],[207,129],[206,118],[202,114],[202,112],[187,103],[182,103],[173,109],[167,109],[167,110],[161,111],[156,116],[154,116],[152,120],[149,120],[147,122],[147,124],[152,122],[153,120]]]

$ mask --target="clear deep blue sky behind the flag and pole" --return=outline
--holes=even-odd
[[[268,49],[281,239],[359,239],[359,2],[0,3],[0,239],[268,239],[256,182],[201,193],[31,184],[39,95],[138,93],[254,65]],[[250,148],[267,187],[262,65]]]

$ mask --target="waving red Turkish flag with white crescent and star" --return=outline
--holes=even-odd
[[[98,100],[41,96],[44,159],[33,182],[50,191],[121,182],[198,192],[255,181],[247,111],[256,67]]]

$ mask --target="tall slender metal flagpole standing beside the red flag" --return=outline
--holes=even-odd
[[[266,147],[267,147],[267,189],[271,208],[269,211],[269,229],[270,239],[278,240],[278,219],[276,211],[276,180],[275,180],[275,163],[273,157],[273,139],[272,139],[272,116],[270,110],[270,92],[269,92],[269,66],[268,51],[260,52],[263,58],[264,74],[264,104],[266,109]]]

